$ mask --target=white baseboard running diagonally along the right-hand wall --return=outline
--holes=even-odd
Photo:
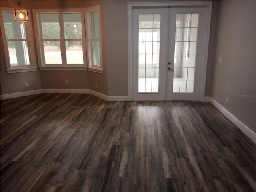
[[[243,131],[254,143],[256,143],[256,133],[254,133],[249,127],[244,125],[242,121],[238,120],[233,114],[226,110],[221,104],[210,97],[210,102],[218,109],[224,116],[226,116],[232,123],[234,123],[241,131]]]

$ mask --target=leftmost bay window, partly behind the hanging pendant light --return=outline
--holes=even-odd
[[[1,29],[8,73],[36,71],[34,42],[28,28],[31,22],[16,22],[13,9],[10,8],[1,8],[1,14]]]

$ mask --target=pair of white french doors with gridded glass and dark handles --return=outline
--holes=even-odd
[[[133,100],[200,100],[206,9],[132,12]]]

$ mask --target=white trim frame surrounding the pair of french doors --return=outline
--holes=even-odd
[[[182,2],[138,2],[138,3],[127,3],[128,13],[128,100],[133,100],[132,85],[135,82],[132,78],[132,9],[134,8],[155,8],[155,7],[205,7],[206,8],[206,26],[204,34],[204,46],[203,46],[203,58],[202,58],[202,71],[200,74],[200,100],[204,101],[204,92],[206,84],[206,69],[208,60],[208,48],[209,48],[209,37],[210,37],[210,24],[212,16],[212,1],[182,1]]]

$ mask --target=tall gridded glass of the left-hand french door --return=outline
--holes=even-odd
[[[139,15],[138,92],[159,92],[161,14]]]

